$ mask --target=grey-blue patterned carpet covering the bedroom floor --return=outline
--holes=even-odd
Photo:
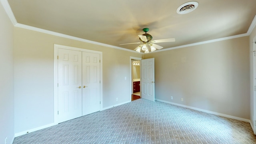
[[[13,144],[256,144],[248,122],[142,98],[14,139]]]

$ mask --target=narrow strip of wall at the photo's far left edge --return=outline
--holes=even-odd
[[[14,138],[13,29],[0,3],[0,143]]]

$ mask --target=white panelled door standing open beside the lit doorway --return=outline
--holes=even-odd
[[[154,58],[144,59],[140,62],[141,77],[140,88],[141,98],[155,101],[155,66]]]

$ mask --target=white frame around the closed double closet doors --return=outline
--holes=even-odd
[[[58,48],[100,54],[100,111],[103,110],[102,52],[54,44],[54,124],[58,124]]]

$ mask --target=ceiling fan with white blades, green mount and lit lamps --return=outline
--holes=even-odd
[[[163,48],[162,46],[158,46],[157,44],[154,44],[154,43],[175,42],[175,38],[152,40],[153,37],[150,34],[147,34],[148,31],[149,31],[149,28],[143,28],[143,32],[145,32],[145,34],[138,35],[140,37],[141,42],[129,43],[129,44],[140,44],[140,46],[134,49],[137,52],[140,52],[141,50],[143,50],[145,53],[148,53],[149,52],[148,46],[150,47],[151,52],[154,52],[156,49],[160,50],[161,48]],[[120,45],[124,45],[124,44],[120,44]]]

